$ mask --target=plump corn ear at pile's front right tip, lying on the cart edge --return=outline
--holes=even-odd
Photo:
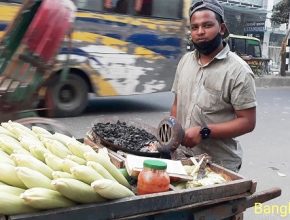
[[[106,199],[121,199],[135,194],[120,183],[108,179],[94,181],[91,186],[102,197]]]

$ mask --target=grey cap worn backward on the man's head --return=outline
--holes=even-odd
[[[208,9],[211,10],[218,15],[221,16],[222,22],[225,21],[225,15],[224,15],[224,8],[221,6],[221,4],[217,0],[197,0],[193,1],[192,5],[189,8],[189,18],[195,13],[196,11],[200,9]],[[226,38],[229,36],[229,30],[226,26],[225,34],[223,38]]]

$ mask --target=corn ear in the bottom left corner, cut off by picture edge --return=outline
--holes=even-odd
[[[0,214],[17,215],[32,212],[36,212],[36,210],[26,205],[19,196],[0,192]]]

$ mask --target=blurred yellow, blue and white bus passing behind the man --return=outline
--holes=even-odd
[[[75,0],[73,45],[63,44],[45,90],[49,114],[80,114],[89,93],[106,97],[169,91],[186,51],[185,8],[190,2]],[[0,0],[0,37],[19,4]],[[67,80],[60,79],[64,68],[69,69]]]

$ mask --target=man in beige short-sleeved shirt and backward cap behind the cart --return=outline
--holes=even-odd
[[[217,0],[195,1],[189,16],[195,50],[178,64],[171,115],[185,129],[183,146],[237,172],[242,150],[234,138],[256,124],[254,75],[222,40],[229,32]]]

